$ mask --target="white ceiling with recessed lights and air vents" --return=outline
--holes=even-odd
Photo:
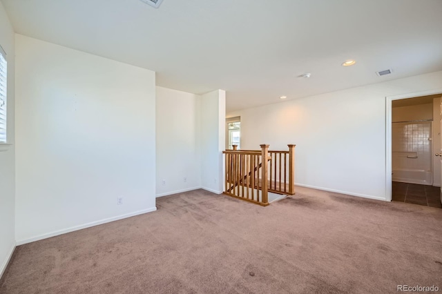
[[[442,70],[441,0],[2,2],[19,34],[227,90],[228,111]]]

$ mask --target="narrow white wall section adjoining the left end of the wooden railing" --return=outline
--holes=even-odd
[[[213,193],[222,193],[225,147],[226,92],[215,90],[201,98],[201,186]]]

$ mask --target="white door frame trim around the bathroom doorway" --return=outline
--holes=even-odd
[[[392,101],[438,94],[442,88],[385,97],[385,201],[392,201]]]

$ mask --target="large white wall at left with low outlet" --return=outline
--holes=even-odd
[[[155,210],[155,72],[15,41],[17,243]]]

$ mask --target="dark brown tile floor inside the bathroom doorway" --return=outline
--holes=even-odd
[[[442,208],[440,193],[440,187],[393,182],[392,200]]]

